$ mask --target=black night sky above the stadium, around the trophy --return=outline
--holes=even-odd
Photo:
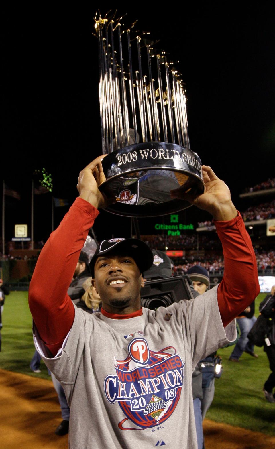
[[[21,202],[6,197],[6,240],[14,224],[31,225],[35,169],[45,167],[53,176],[53,196],[71,203],[80,170],[101,154],[98,44],[92,35],[97,7],[101,13],[110,9],[22,9],[5,18],[1,169],[8,187],[22,196]],[[119,10],[125,12],[124,23],[138,19],[137,29],[151,31],[180,61],[191,149],[226,181],[241,209],[241,191],[275,172],[274,10],[267,2],[257,10],[234,2],[221,9],[213,2]],[[55,226],[67,209],[55,208]],[[185,223],[207,218],[194,207],[181,214]],[[152,233],[156,221],[139,220],[141,232]],[[50,231],[50,194],[36,195],[35,240]],[[98,239],[128,237],[130,220],[102,212],[95,232]]]

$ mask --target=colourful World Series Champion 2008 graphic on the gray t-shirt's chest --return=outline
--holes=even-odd
[[[115,358],[115,375],[104,380],[107,400],[118,402],[126,418],[121,430],[143,430],[168,419],[180,399],[184,362],[173,346],[151,351],[146,339],[135,338],[128,345],[125,360]],[[135,427],[123,427],[130,419]]]

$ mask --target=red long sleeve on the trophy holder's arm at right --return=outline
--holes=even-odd
[[[215,221],[224,255],[224,275],[217,300],[222,323],[227,326],[260,292],[252,242],[238,213],[229,221]]]

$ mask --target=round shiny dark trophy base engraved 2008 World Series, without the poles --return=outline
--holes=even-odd
[[[171,214],[190,202],[171,191],[200,195],[205,186],[201,161],[189,148],[167,142],[143,142],[113,151],[102,160],[106,180],[99,189],[115,197],[107,211],[130,217]]]

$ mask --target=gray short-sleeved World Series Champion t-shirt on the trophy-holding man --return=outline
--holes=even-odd
[[[197,449],[192,371],[236,330],[235,321],[223,328],[215,287],[129,319],[75,308],[54,358],[35,326],[34,335],[70,405],[71,449]]]

